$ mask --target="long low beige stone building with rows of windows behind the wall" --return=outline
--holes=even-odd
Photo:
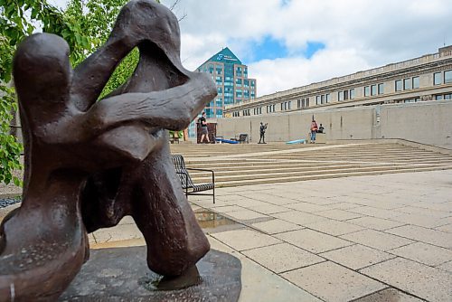
[[[452,99],[452,46],[409,61],[269,94],[227,106],[226,118],[304,109]]]

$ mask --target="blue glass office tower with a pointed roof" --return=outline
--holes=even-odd
[[[256,80],[248,78],[248,66],[227,47],[205,61],[197,71],[210,73],[217,85],[218,96],[205,108],[207,118],[222,118],[225,106],[256,99]]]

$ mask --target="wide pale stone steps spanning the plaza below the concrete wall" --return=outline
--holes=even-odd
[[[215,171],[216,187],[452,169],[450,155],[399,144],[181,144],[171,149],[188,167]],[[210,174],[191,175],[196,184],[210,182]]]

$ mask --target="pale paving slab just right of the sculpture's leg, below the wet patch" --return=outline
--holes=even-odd
[[[235,250],[250,250],[282,243],[274,237],[250,230],[223,231],[211,234],[211,236]]]

